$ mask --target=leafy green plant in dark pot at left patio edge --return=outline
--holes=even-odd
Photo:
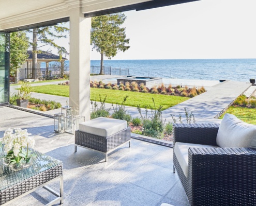
[[[26,108],[28,99],[31,97],[31,85],[28,82],[22,82],[21,88],[18,91],[17,106]]]

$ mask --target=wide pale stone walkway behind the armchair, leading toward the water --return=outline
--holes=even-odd
[[[176,118],[179,114],[182,114],[183,123],[187,123],[184,110],[184,108],[186,108],[188,112],[193,111],[197,123],[220,122],[220,119],[215,117],[218,117],[222,111],[227,109],[232,102],[250,86],[251,84],[246,82],[224,81],[213,86],[212,89],[201,95],[164,110],[162,116],[166,118],[167,121],[172,122],[170,114],[175,115]]]

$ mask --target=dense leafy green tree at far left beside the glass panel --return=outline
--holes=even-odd
[[[14,75],[15,82],[19,82],[19,68],[25,63],[28,55],[29,38],[25,31],[10,33],[10,74]]]

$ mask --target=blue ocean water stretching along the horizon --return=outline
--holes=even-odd
[[[100,60],[91,60],[93,65],[99,66]],[[246,82],[256,78],[256,59],[104,60],[104,65],[129,68],[135,76]]]

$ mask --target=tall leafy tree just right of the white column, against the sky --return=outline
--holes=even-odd
[[[124,13],[113,13],[92,18],[91,45],[100,53],[100,73],[103,73],[103,57],[114,57],[120,50],[125,52],[130,48],[129,39],[126,39]]]

